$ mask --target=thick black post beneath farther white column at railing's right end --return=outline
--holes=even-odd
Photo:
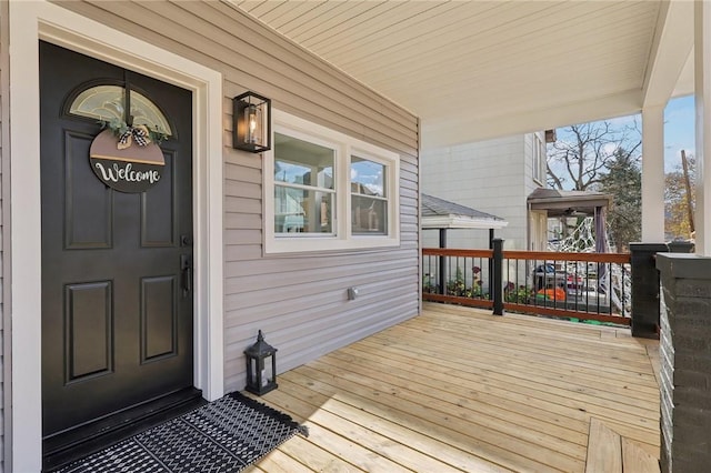
[[[632,336],[659,339],[659,271],[657,253],[665,243],[630,243],[632,260]]]

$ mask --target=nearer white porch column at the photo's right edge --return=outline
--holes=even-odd
[[[711,3],[695,2],[694,99],[697,104],[697,254],[711,256]]]

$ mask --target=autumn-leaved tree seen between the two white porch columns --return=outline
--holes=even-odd
[[[697,160],[693,155],[687,158],[689,164],[689,183],[691,193],[691,212],[695,202],[694,181],[697,175]],[[690,239],[691,222],[689,221],[689,199],[687,180],[681,165],[664,177],[664,232],[671,239]]]

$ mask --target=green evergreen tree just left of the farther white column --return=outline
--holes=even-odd
[[[600,190],[612,194],[608,213],[610,238],[623,251],[631,241],[640,241],[642,229],[642,171],[639,157],[618,148],[600,175]]]

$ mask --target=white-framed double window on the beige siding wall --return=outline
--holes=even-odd
[[[273,112],[264,159],[264,252],[400,244],[399,157]]]

